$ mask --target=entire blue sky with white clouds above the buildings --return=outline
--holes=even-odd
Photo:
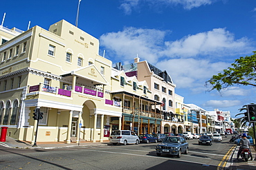
[[[78,0],[2,1],[4,27],[27,30],[61,19],[75,25]],[[123,64],[139,56],[167,70],[184,103],[230,111],[255,102],[255,88],[207,92],[212,75],[256,46],[255,0],[82,0],[78,27],[100,39],[100,54]]]

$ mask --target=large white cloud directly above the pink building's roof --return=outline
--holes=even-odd
[[[167,31],[168,32],[168,31]],[[140,58],[155,63],[161,51],[165,31],[141,28],[125,28],[120,32],[109,32],[100,36],[100,44],[115,59],[132,60]],[[113,61],[113,58],[112,58]]]

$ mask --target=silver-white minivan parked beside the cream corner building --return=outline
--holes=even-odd
[[[129,130],[113,130],[110,137],[109,142],[113,145],[117,145],[118,143],[127,145],[127,144],[136,144],[140,143],[140,139],[134,133],[134,131]]]

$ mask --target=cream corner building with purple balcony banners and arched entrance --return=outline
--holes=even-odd
[[[1,32],[9,41],[0,45],[0,125],[8,136],[35,142],[35,108],[44,113],[41,142],[103,141],[121,128],[112,63],[98,54],[98,39],[64,20],[9,35]]]

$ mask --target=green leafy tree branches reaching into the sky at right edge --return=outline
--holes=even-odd
[[[256,51],[252,56],[241,56],[232,63],[232,67],[212,76],[205,85],[211,86],[210,91],[225,89],[232,85],[252,85],[256,87]]]

